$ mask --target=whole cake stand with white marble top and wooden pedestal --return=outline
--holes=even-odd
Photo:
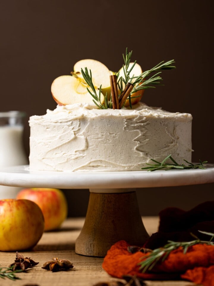
[[[29,166],[0,169],[0,185],[86,189],[90,191],[84,226],[75,243],[77,254],[103,257],[115,242],[143,245],[148,239],[141,220],[136,188],[214,182],[214,166],[205,170],[129,172],[29,171]]]

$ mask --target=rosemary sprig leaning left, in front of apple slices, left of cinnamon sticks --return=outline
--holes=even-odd
[[[91,96],[93,97],[93,102],[97,105],[98,108],[100,109],[107,109],[108,108],[108,101],[107,101],[107,94],[106,96],[104,96],[104,99],[105,99],[105,105],[103,105],[101,103],[101,92],[102,92],[102,85],[100,85],[100,88],[99,88],[99,95],[97,95],[97,92],[96,92],[96,89],[94,87],[94,84],[92,82],[92,72],[91,70],[90,71],[90,74],[88,72],[88,69],[85,67],[85,71],[83,69],[81,69],[81,73],[82,73],[82,76],[85,80],[85,82],[87,83],[87,85],[92,89],[92,92],[89,90],[89,88],[87,87],[87,91],[91,94]],[[98,103],[97,103],[98,102]]]

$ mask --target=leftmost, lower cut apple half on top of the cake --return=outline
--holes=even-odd
[[[54,100],[59,105],[69,105],[74,103],[90,103],[94,106],[92,95],[87,91],[87,84],[77,77],[71,75],[62,75],[57,77],[51,85],[51,93]],[[89,88],[89,87],[88,87]],[[89,88],[90,90],[90,88]],[[95,88],[97,95],[99,90]],[[101,94],[101,103],[104,102],[104,97]]]

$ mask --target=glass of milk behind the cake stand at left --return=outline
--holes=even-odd
[[[26,114],[21,111],[0,112],[0,168],[26,165],[23,129]],[[20,188],[0,186],[0,199],[15,198]]]

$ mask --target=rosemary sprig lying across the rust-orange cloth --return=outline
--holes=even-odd
[[[188,251],[188,248],[195,244],[207,244],[207,245],[214,246],[214,242],[212,241],[214,238],[214,233],[200,231],[200,230],[199,232],[211,236],[210,240],[209,241],[200,240],[195,235],[193,236],[196,237],[196,239],[192,241],[188,241],[188,242],[175,242],[175,241],[168,240],[168,244],[164,245],[161,248],[156,248],[152,252],[150,252],[150,254],[142,257],[142,259],[144,260],[139,263],[140,265],[139,269],[140,270],[142,269],[142,272],[146,272],[147,270],[148,271],[152,270],[152,268],[156,265],[158,261],[163,262],[169,256],[171,251],[179,247],[181,247],[183,249],[183,253],[186,254]]]

